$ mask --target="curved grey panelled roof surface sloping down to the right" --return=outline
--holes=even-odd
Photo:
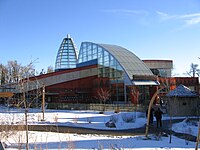
[[[129,50],[108,44],[98,44],[115,57],[132,80],[136,76],[154,76],[147,65]]]

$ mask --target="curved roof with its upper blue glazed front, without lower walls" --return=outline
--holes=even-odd
[[[132,84],[133,76],[154,76],[135,54],[116,45],[82,42],[78,63],[88,64],[87,62],[98,63],[99,77],[122,79],[127,84]]]

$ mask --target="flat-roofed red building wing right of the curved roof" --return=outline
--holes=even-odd
[[[172,60],[143,60],[143,62],[158,77],[158,82],[160,83],[159,88],[162,88],[159,93],[161,98],[181,84],[196,92],[199,91],[198,77],[172,77]]]

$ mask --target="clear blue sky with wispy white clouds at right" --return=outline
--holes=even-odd
[[[200,67],[199,0],[0,0],[0,63],[55,65],[67,34],[115,44],[140,59],[173,60],[173,74]]]

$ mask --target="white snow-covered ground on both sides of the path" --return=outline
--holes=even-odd
[[[39,109],[29,109],[29,124],[52,124],[62,126],[75,126],[104,130],[131,129],[144,126],[146,117],[141,112],[105,112],[97,111],[69,111],[69,110],[45,110],[45,121],[41,121],[42,113]],[[164,116],[163,119],[169,119]],[[116,128],[108,128],[105,123],[109,120],[115,122]],[[0,107],[1,124],[24,124],[24,110]],[[183,121],[173,125],[178,132],[197,135],[198,123],[188,124]],[[7,131],[8,132],[8,131]],[[6,135],[6,136],[5,136]],[[10,131],[1,133],[1,142],[6,149],[25,149],[25,132]],[[94,134],[69,134],[53,132],[29,131],[30,149],[140,149],[140,150],[174,150],[194,149],[195,142],[187,142],[177,137],[157,137],[149,135],[151,139],[140,136],[111,136]]]

